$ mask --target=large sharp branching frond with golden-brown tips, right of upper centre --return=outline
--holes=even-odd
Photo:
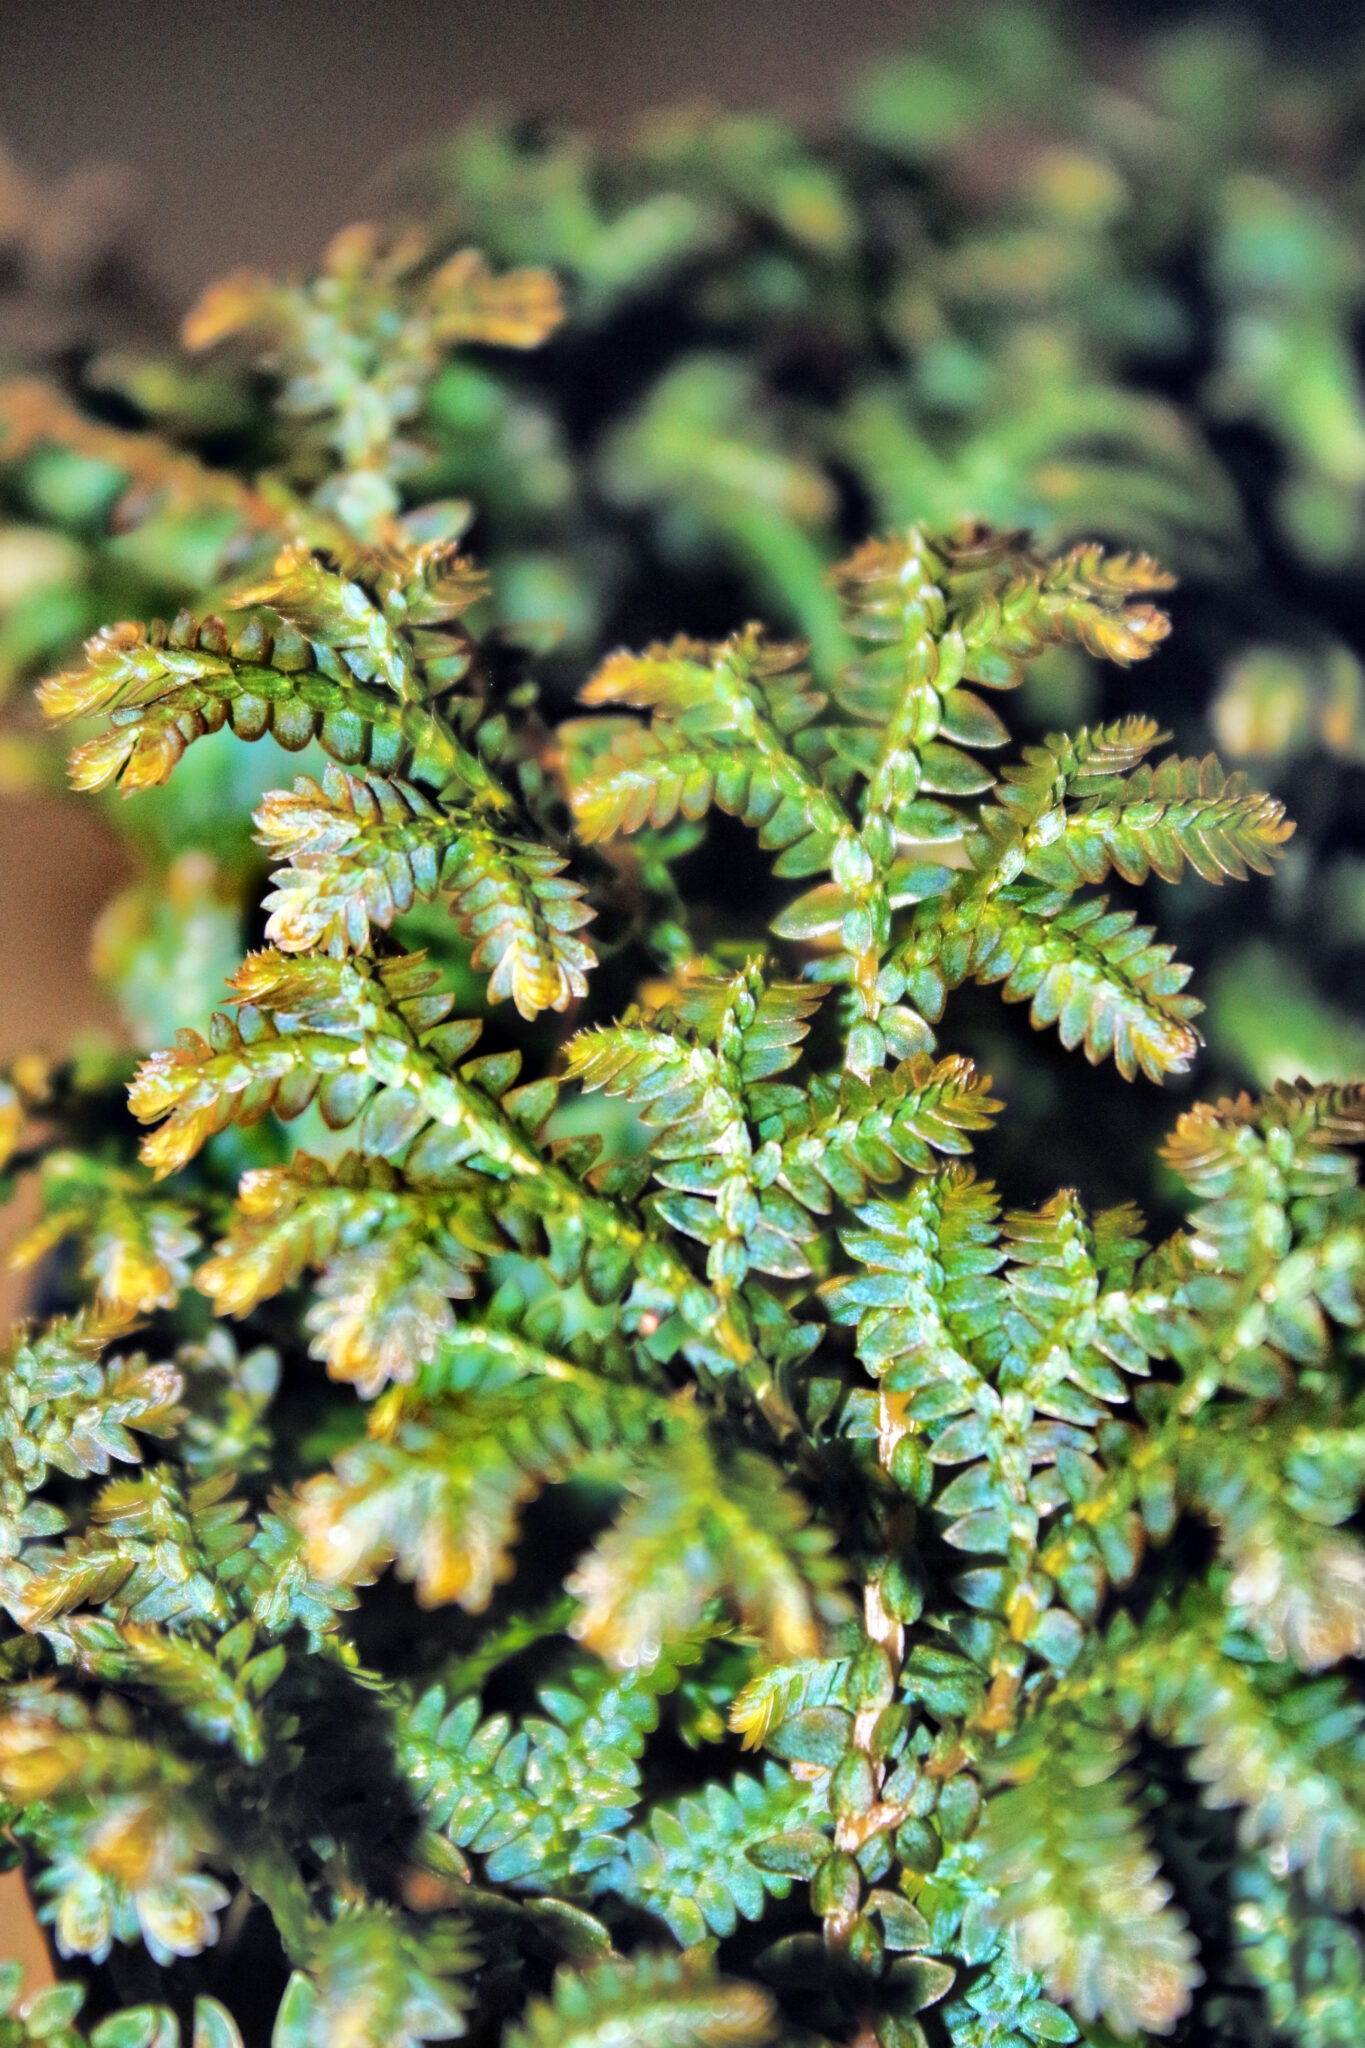
[[[598,670],[583,702],[649,723],[563,727],[579,836],[661,829],[716,805],[757,829],[776,874],[829,874],[772,930],[812,948],[812,979],[853,991],[855,1075],[929,1051],[948,989],[968,975],[1005,981],[1038,1026],[1056,1022],[1064,1044],[1113,1057],[1130,1079],[1187,1071],[1199,1044],[1187,969],[1132,911],[1072,899],[1111,868],[1130,881],[1175,881],[1185,864],[1214,881],[1269,872],[1291,834],[1283,807],[1212,758],[1146,766],[1158,733],[1144,719],[1054,737],[999,784],[970,752],[1009,735],[968,684],[1009,688],[1066,641],[1115,662],[1148,655],[1169,621],[1140,592],[1171,578],[1144,555],[1052,557],[1025,535],[964,526],[868,541],[831,580],[864,651],[829,692],[810,688],[798,647],[755,627]]]

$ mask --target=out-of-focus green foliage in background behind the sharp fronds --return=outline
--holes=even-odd
[[[399,162],[313,276],[229,276],[178,338],[117,180],[41,190],[0,158],[0,784],[59,784],[39,672],[104,618],[211,608],[291,518],[372,535],[436,504],[551,713],[618,641],[749,616],[829,674],[814,571],[870,528],[1103,539],[1181,578],[1144,709],[1300,821],[1242,901],[1175,891],[1209,1004],[1197,1085],[1359,1073],[1363,141],[1365,35],[1295,57],[1228,23],[1097,37],[1064,8],[933,8],[819,127],[469,121]],[[460,346],[469,248],[561,279],[546,348]],[[1132,709],[1081,653],[1025,690],[1040,735]],[[137,1042],[217,993],[262,874],[241,778],[282,770],[272,743],[207,741],[153,801],[111,805],[137,879],[96,971]],[[428,924],[409,938],[452,954]],[[1126,1192],[1169,1106],[1064,1081],[995,1006],[970,1028],[1019,1112],[990,1161],[1011,1192]]]

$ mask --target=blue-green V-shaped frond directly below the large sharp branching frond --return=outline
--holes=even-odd
[[[1150,1370],[1132,1298],[1111,1284],[1115,1253],[1132,1270],[1140,1249],[1124,1235],[1132,1219],[1091,1231],[1074,1196],[1056,1196],[1001,1233],[995,1190],[962,1167],[857,1214],[841,1237],[864,1272],[823,1292],[837,1321],[857,1325],[857,1356],[880,1382],[882,1462],[915,1499],[933,1497],[945,1544],[1003,1559],[956,1581],[978,1614],[1009,1622],[1011,1649],[978,1624],[986,1667],[1005,1671],[1027,1645],[1064,1671],[1083,1632],[1052,1604],[1050,1579],[1085,1620],[1091,1589],[1060,1538],[1042,1556],[1040,1538],[1068,1497],[1097,1491],[1124,1374]],[[962,1470],[941,1485],[933,1466]],[[1140,1544],[1124,1559],[1117,1530],[1105,1534],[1113,1575],[1132,1577]]]

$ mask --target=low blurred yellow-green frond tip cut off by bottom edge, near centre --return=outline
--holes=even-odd
[[[761,2048],[778,2032],[772,1997],[718,1976],[704,1952],[634,1956],[561,1970],[551,1999],[532,1999],[508,2048]]]

